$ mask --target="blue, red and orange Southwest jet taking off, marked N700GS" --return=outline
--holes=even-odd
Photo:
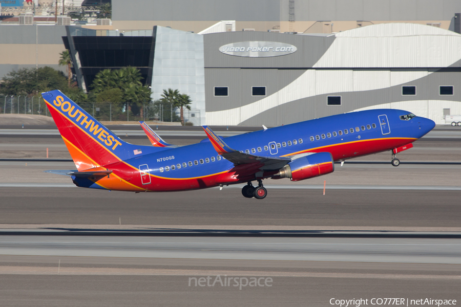
[[[375,109],[228,138],[202,126],[207,139],[178,147],[140,122],[153,144],[142,146],[122,141],[60,91],[42,96],[77,167],[65,174],[78,187],[103,190],[183,191],[247,183],[243,196],[263,199],[263,179],[321,176],[333,172],[334,161],[391,151],[391,163],[398,166],[395,154],[435,126],[406,111]]]

